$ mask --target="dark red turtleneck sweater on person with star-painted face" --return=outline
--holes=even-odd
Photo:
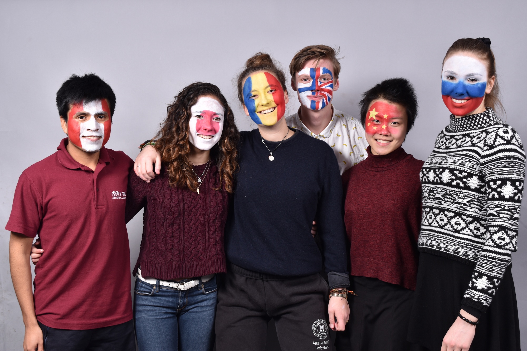
[[[423,161],[403,148],[368,157],[342,175],[352,276],[415,290]]]

